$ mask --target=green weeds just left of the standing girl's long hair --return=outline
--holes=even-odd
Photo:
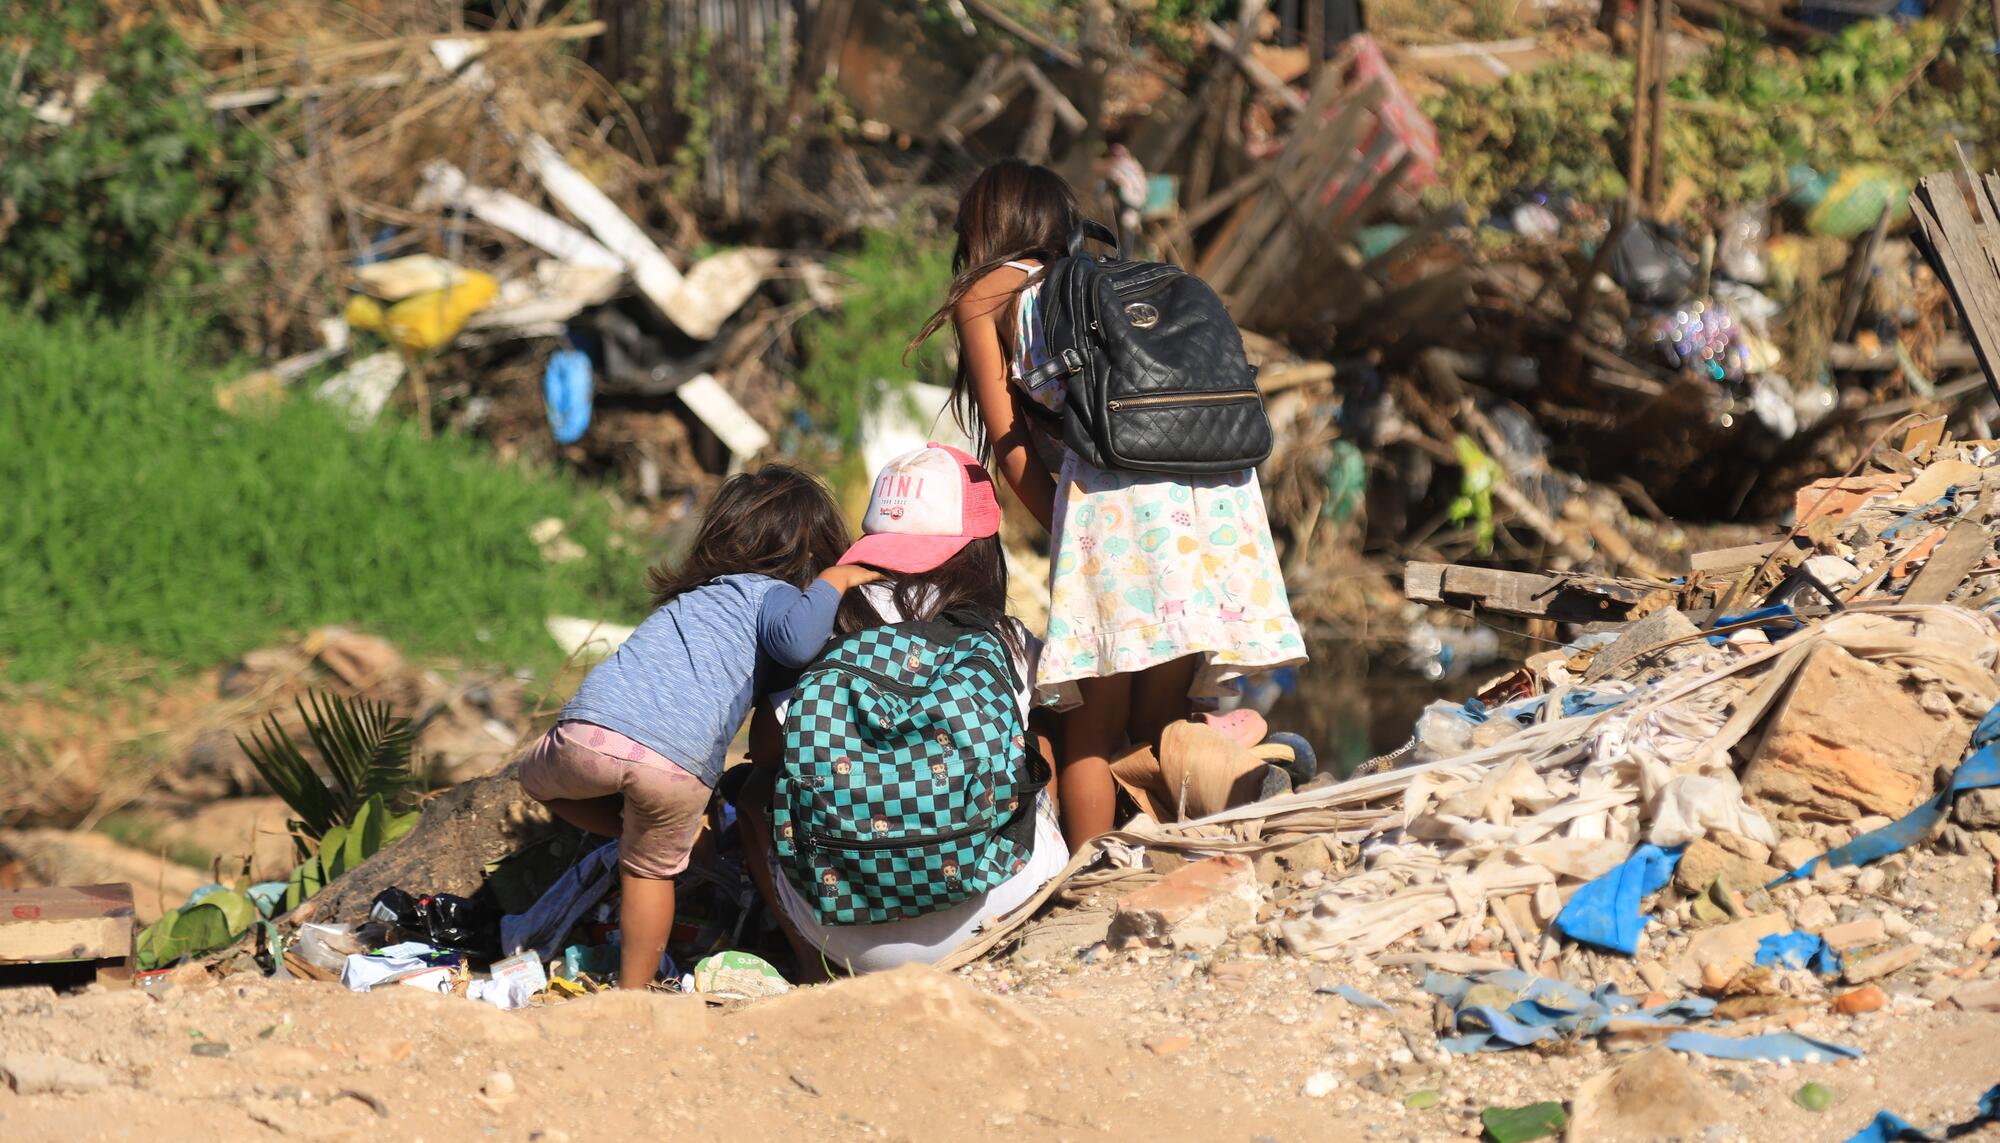
[[[902,350],[944,302],[952,280],[948,244],[918,238],[916,228],[870,230],[860,250],[834,260],[842,284],[840,308],[800,326],[804,368],[798,386],[820,424],[842,446],[860,442],[862,416],[876,400],[876,380],[916,378],[950,384],[942,332],[902,362]]]

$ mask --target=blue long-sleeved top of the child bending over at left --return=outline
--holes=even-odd
[[[762,693],[790,687],[834,633],[840,591],[770,575],[722,575],[670,599],[562,707],[644,743],[714,785]]]

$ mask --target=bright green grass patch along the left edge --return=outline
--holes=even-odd
[[[224,414],[230,372],[196,360],[184,324],[0,314],[0,677],[202,667],[318,623],[548,677],[546,615],[638,613],[600,500],[394,414],[352,432],[310,386]],[[544,564],[546,516],[590,556]]]

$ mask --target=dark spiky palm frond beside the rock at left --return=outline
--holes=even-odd
[[[392,801],[408,789],[416,779],[410,771],[416,733],[410,719],[390,713],[388,703],[322,691],[308,693],[308,699],[312,709],[300,701],[298,717],[326,765],[324,775],[306,761],[276,717],[266,719],[262,733],[250,731],[250,741],[236,741],[258,775],[298,813],[294,829],[318,841],[354,821],[370,797]]]

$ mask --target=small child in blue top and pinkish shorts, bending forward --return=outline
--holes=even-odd
[[[618,983],[658,973],[674,881],[750,705],[820,653],[832,613],[876,572],[836,566],[840,508],[782,464],[728,480],[678,570],[648,575],[658,607],[598,663],[522,763],[522,787],[564,821],[618,837]],[[822,572],[824,568],[824,572]]]

